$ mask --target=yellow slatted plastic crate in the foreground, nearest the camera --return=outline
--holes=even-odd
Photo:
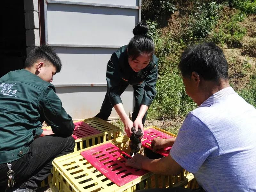
[[[164,130],[157,127],[151,126],[148,128],[155,128],[159,131],[165,132]],[[165,133],[175,136],[168,132]],[[129,138],[125,135],[110,141],[106,141],[105,143],[112,142],[118,148],[129,154],[129,141]],[[98,146],[99,145],[102,145],[102,143],[98,144]],[[128,192],[136,191],[136,188],[167,188],[174,186],[186,187],[188,186],[188,182],[190,183],[191,180],[194,179],[194,176],[185,170],[183,170],[179,176],[159,176],[149,172],[133,180],[132,182],[125,184],[122,187],[118,187],[107,177],[102,175],[100,172],[97,172],[96,168],[94,168],[86,159],[84,159],[83,156],[80,155],[81,151],[85,151],[93,147],[85,148],[80,151],[55,158],[53,160],[53,178],[52,182],[50,183],[50,187],[53,192]],[[144,181],[146,181],[145,186]]]

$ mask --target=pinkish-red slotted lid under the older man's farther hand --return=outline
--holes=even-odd
[[[142,139],[142,146],[152,150],[152,148],[150,146],[151,146],[151,142],[154,138],[167,139],[167,138],[172,138],[172,137],[173,136],[167,135],[167,134],[165,134],[163,132],[160,132],[160,131],[158,131],[156,129],[153,129],[153,128],[145,129],[144,130],[144,137]],[[162,156],[168,156],[169,153],[170,153],[171,148],[172,147],[167,147],[165,149],[160,149],[160,150],[157,150],[156,153],[159,153]]]

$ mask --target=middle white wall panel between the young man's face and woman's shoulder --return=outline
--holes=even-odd
[[[107,62],[117,48],[54,48],[63,68],[53,84],[106,84]]]

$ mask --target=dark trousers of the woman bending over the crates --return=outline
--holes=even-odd
[[[133,110],[133,113],[132,113],[132,121],[133,122],[137,118],[137,116],[139,114],[139,111],[140,111],[140,103],[141,103],[143,95],[144,95],[144,86],[145,86],[144,81],[140,84],[132,85],[133,92],[134,92],[134,98],[135,98],[135,105],[134,105],[134,110]],[[122,90],[119,90],[120,93],[122,94],[126,88],[127,88],[127,86],[121,86],[120,89],[122,89]],[[104,101],[102,103],[102,106],[100,108],[100,113],[98,113],[95,117],[99,117],[99,118],[107,121],[108,117],[111,114],[112,108],[113,108],[113,106],[110,103],[108,94],[106,93],[105,99],[104,99]],[[147,114],[148,114],[148,112],[146,112],[145,115],[142,118],[142,124],[143,125],[145,123]]]

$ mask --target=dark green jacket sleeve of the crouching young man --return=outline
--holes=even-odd
[[[62,107],[53,85],[47,86],[43,90],[39,101],[39,110],[41,118],[52,127],[55,134],[71,135],[73,133],[75,125],[71,116]]]

